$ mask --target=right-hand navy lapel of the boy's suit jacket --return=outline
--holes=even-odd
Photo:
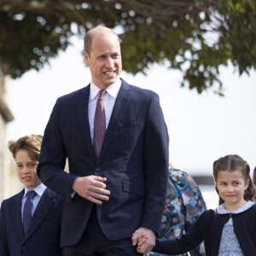
[[[43,219],[49,212],[49,209],[53,206],[53,198],[56,197],[55,192],[50,189],[45,189],[40,201],[38,202],[38,207],[32,216],[32,221],[27,235],[24,237],[26,240],[32,233],[38,228],[38,225],[42,223]]]

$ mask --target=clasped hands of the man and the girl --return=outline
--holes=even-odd
[[[155,246],[154,231],[149,230],[148,228],[145,228],[145,227],[139,228],[132,235],[132,238],[131,238],[132,245],[133,246],[138,245],[139,239],[142,239],[143,237],[144,237],[143,244],[142,245],[139,244],[139,246],[137,247],[137,252],[146,254],[151,252],[151,250]]]

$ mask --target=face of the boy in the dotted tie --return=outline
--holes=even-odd
[[[15,155],[18,177],[27,189],[36,188],[41,181],[38,178],[38,161],[32,160],[26,150],[19,150]]]

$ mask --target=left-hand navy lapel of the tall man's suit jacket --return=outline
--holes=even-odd
[[[96,162],[97,157],[95,150],[93,148],[91,137],[90,137],[90,124],[88,118],[88,103],[89,103],[89,96],[90,96],[90,84],[81,90],[81,96],[77,102],[77,111],[79,116],[79,125],[82,130],[82,136],[85,141],[85,144],[88,145],[86,148],[90,154],[92,160]]]

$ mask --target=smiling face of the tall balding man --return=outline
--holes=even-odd
[[[90,67],[92,82],[101,89],[108,88],[118,79],[122,70],[118,38],[110,32],[95,35],[90,56],[84,51],[84,61]]]

